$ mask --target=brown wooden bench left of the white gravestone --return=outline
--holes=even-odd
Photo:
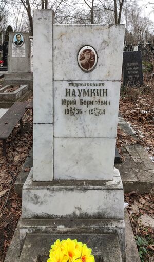
[[[23,115],[28,102],[15,102],[14,105],[0,118],[0,140],[3,141],[3,156],[6,156],[6,140],[16,124],[20,121],[23,132]]]

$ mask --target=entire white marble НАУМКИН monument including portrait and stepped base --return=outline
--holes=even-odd
[[[114,169],[124,32],[52,25],[51,10],[34,12],[33,170],[23,187],[21,243],[36,232],[115,234],[125,261],[123,185]]]

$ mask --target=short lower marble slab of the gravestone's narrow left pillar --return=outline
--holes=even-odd
[[[33,125],[33,180],[53,180],[53,124]]]

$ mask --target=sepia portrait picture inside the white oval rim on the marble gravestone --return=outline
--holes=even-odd
[[[80,54],[80,65],[86,70],[90,70],[95,62],[95,55],[91,49],[85,49]]]

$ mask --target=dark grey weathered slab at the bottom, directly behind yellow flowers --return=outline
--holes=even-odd
[[[78,239],[92,249],[95,262],[122,262],[118,237],[115,234],[27,234],[19,262],[46,262],[50,246],[56,239]]]

